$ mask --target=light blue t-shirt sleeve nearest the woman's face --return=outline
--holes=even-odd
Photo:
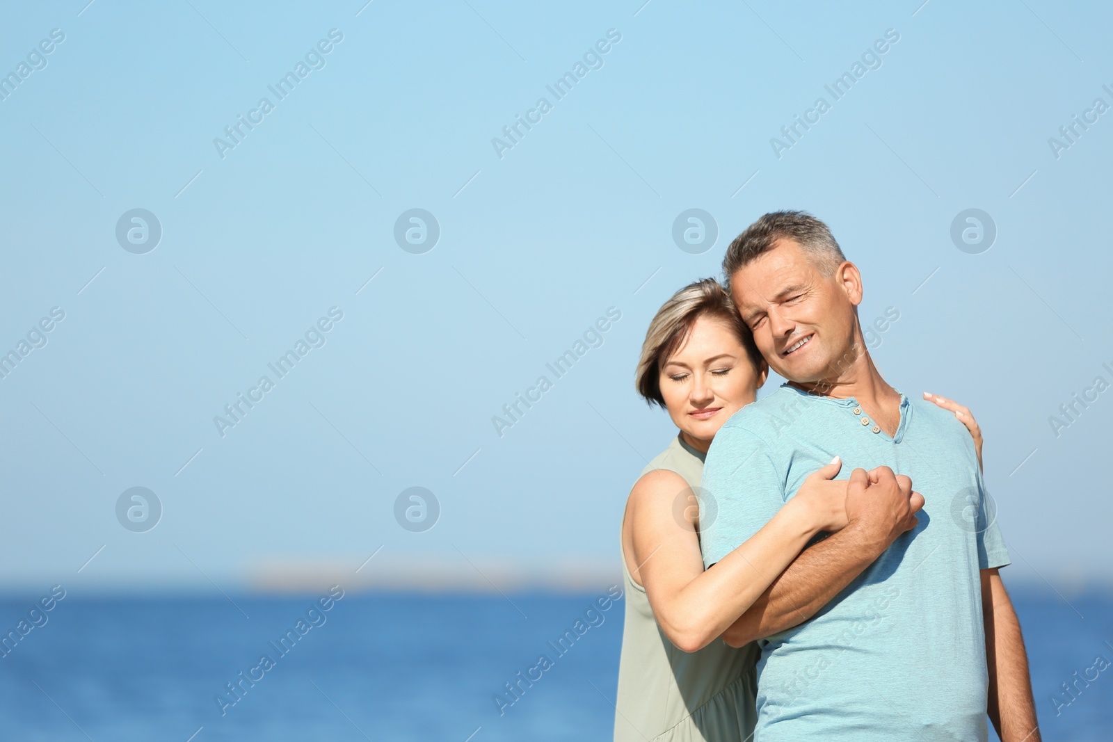
[[[697,494],[705,568],[743,544],[784,507],[784,482],[757,435],[741,427],[720,428]]]

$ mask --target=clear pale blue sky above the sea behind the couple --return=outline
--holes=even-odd
[[[875,344],[886,378],[976,413],[1006,580],[1111,576],[1113,392],[1048,421],[1113,384],[1109,8],[2,12],[0,72],[19,81],[0,100],[0,350],[31,334],[0,378],[8,584],[235,586],[259,564],[354,568],[380,547],[384,574],[614,568],[629,487],[672,435],[632,388],[646,326],[779,208],[831,226],[863,270],[864,320],[899,313]],[[229,148],[238,117],[256,123]],[[532,128],[493,142],[518,117]],[[795,117],[812,123],[786,147]],[[672,238],[692,208],[718,229],[699,254]],[[979,253],[951,237],[972,208],[996,229]],[[132,209],[161,230],[145,254],[117,239]],[[432,249],[396,241],[411,209],[433,215]],[[597,347],[500,436],[492,417],[609,309]],[[262,376],[273,388],[252,392]],[[238,394],[257,402],[221,435]],[[137,486],[162,511],[144,533],[117,516]],[[396,521],[410,487],[435,495],[432,528]]]

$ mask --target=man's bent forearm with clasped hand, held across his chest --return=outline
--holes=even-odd
[[[742,646],[804,623],[873,564],[897,536],[916,527],[916,512],[924,506],[924,497],[912,491],[912,479],[894,475],[887,466],[868,474],[867,487],[847,488],[847,526],[804,550],[722,633],[727,644]]]

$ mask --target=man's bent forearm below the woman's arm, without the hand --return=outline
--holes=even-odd
[[[732,646],[804,623],[874,563],[879,546],[849,525],[804,550],[769,588],[722,634]]]

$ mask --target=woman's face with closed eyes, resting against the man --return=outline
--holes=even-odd
[[[768,367],[755,368],[726,320],[702,315],[661,365],[661,396],[684,441],[706,452],[731,415],[757,398]]]

